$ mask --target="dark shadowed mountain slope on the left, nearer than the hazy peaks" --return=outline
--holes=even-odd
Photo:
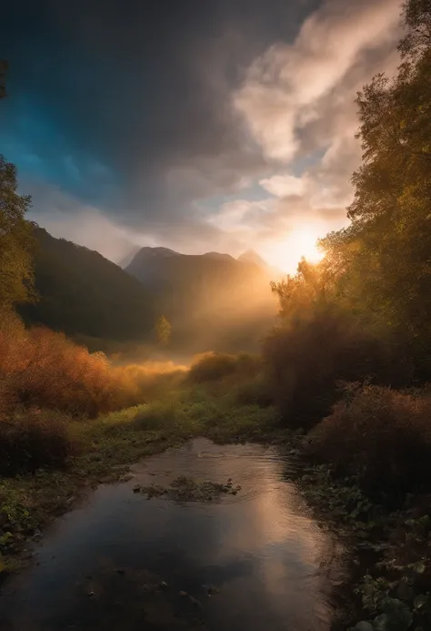
[[[69,335],[144,340],[155,321],[141,283],[91,249],[35,229],[35,288],[39,300],[21,313],[27,322]]]

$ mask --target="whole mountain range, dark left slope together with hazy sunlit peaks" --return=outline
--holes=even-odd
[[[256,261],[142,248],[122,270],[45,229],[35,229],[35,240],[39,298],[21,307],[23,318],[65,331],[92,350],[133,351],[153,340],[162,314],[172,326],[170,353],[257,350],[274,323],[270,275]]]

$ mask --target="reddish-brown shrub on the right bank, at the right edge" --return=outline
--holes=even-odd
[[[307,451],[368,489],[431,484],[431,395],[350,385],[311,433]]]

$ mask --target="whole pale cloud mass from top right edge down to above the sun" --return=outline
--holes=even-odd
[[[325,234],[346,224],[361,155],[356,92],[395,71],[399,13],[398,0],[327,0],[292,43],[257,57],[236,90],[234,107],[275,166],[259,180],[275,196],[257,232],[269,259],[271,244],[298,227]]]

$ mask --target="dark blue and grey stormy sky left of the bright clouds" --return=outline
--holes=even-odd
[[[345,17],[339,0],[6,0],[0,152],[35,219],[68,236],[96,213],[140,242],[229,248],[207,214],[279,168],[232,95],[331,2]]]

